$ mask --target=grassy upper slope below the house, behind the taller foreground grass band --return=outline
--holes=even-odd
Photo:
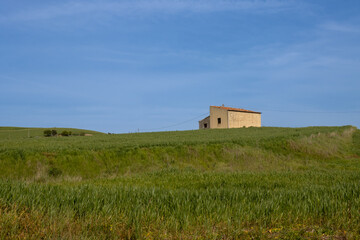
[[[352,127],[248,128],[0,140],[0,178],[121,176],[163,168],[306,170],[339,165]],[[308,161],[311,158],[312,161]],[[324,163],[323,159],[327,159]]]

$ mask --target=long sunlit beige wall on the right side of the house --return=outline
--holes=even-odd
[[[261,114],[228,111],[229,128],[261,127]]]

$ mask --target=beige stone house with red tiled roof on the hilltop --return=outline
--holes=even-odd
[[[199,121],[199,129],[261,127],[261,112],[210,106],[210,116]]]

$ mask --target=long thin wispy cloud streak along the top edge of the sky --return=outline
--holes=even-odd
[[[250,11],[257,13],[278,12],[298,6],[294,1],[280,0],[125,0],[119,1],[70,1],[66,3],[31,7],[3,14],[0,22],[45,20],[89,13],[134,15],[149,13],[211,13],[221,11]]]

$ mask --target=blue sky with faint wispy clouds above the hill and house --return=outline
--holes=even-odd
[[[0,126],[196,129],[225,104],[265,126],[360,127],[359,12],[358,0],[2,0]]]

